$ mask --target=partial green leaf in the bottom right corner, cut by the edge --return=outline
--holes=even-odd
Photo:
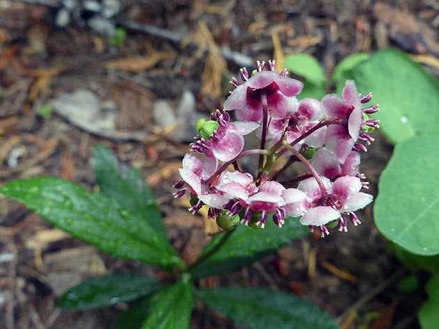
[[[439,275],[429,280],[426,291],[429,300],[422,305],[417,316],[422,329],[436,329],[439,323]]]

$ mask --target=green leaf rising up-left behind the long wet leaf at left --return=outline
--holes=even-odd
[[[102,145],[95,145],[91,162],[102,193],[166,236],[153,192],[137,170],[118,163],[111,151]]]

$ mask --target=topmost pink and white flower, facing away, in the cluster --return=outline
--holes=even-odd
[[[275,72],[275,62],[268,62],[268,71],[263,71],[265,62],[257,62],[257,72],[249,78],[246,68],[240,70],[241,82],[233,78],[236,87],[224,102],[224,110],[236,111],[236,118],[259,122],[262,119],[261,93],[267,95],[268,109],[273,118],[285,118],[288,109],[295,103],[295,95],[302,91],[303,83],[286,77],[288,72]]]

